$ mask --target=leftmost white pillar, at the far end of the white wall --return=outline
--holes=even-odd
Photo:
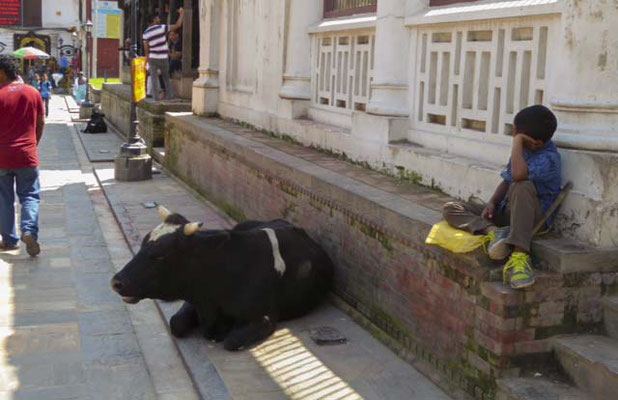
[[[220,0],[200,0],[200,67],[193,83],[193,112],[213,115],[219,103],[219,18]]]

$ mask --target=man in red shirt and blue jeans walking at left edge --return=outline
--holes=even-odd
[[[39,234],[39,155],[45,109],[38,90],[17,82],[17,60],[0,54],[0,252],[18,248],[15,192],[21,203],[21,240],[36,256]]]

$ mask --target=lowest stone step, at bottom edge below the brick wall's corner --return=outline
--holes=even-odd
[[[499,379],[496,400],[590,400],[591,396],[561,382],[540,378]]]

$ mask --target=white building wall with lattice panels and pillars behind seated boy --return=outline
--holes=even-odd
[[[321,3],[202,0],[195,112],[216,111],[376,168],[403,167],[467,199],[491,195],[510,153],[513,116],[541,102],[558,115],[563,180],[574,184],[559,227],[583,242],[618,246],[613,2],[485,0],[430,8],[427,0],[380,0],[379,23],[367,16],[316,22]],[[363,35],[375,37],[372,91],[351,108],[336,84],[351,72],[337,71],[345,65],[338,60],[347,47],[348,56],[357,52]],[[328,37],[337,47],[324,47],[320,40]],[[326,53],[335,61],[322,68]],[[321,74],[331,85],[318,91]],[[367,101],[368,112],[356,106]],[[401,139],[417,146],[396,143]]]

